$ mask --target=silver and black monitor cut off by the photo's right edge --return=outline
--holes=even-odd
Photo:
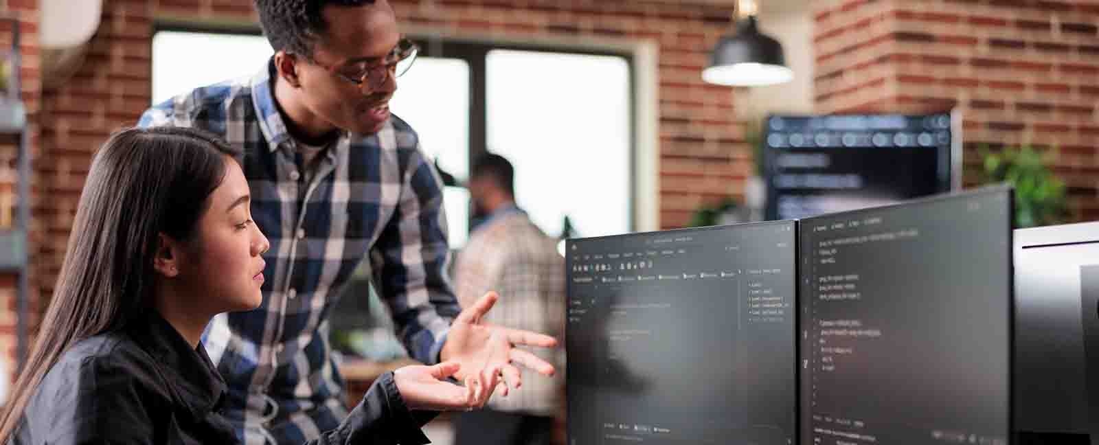
[[[1018,445],[1088,444],[1099,413],[1088,397],[1088,376],[1099,376],[1099,357],[1089,360],[1099,341],[1099,223],[1017,230],[1014,262]]]

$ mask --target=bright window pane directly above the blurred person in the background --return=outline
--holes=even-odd
[[[618,56],[488,52],[488,149],[515,167],[515,200],[551,235],[630,232],[630,66]]]

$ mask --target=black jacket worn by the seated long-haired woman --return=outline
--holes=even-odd
[[[154,312],[73,345],[38,385],[13,444],[236,444],[224,398],[206,348],[191,348]],[[420,427],[432,415],[423,414],[409,411],[386,374],[338,429],[309,443],[426,444]]]

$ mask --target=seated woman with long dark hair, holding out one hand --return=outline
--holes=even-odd
[[[200,338],[262,302],[242,153],[189,129],[130,129],[96,155],[65,264],[0,444],[232,444],[225,383]],[[480,407],[498,370],[459,387],[455,364],[386,374],[313,443],[426,443],[417,410]]]

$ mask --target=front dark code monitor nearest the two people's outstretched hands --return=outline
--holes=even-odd
[[[792,444],[796,233],[569,240],[568,444]]]

